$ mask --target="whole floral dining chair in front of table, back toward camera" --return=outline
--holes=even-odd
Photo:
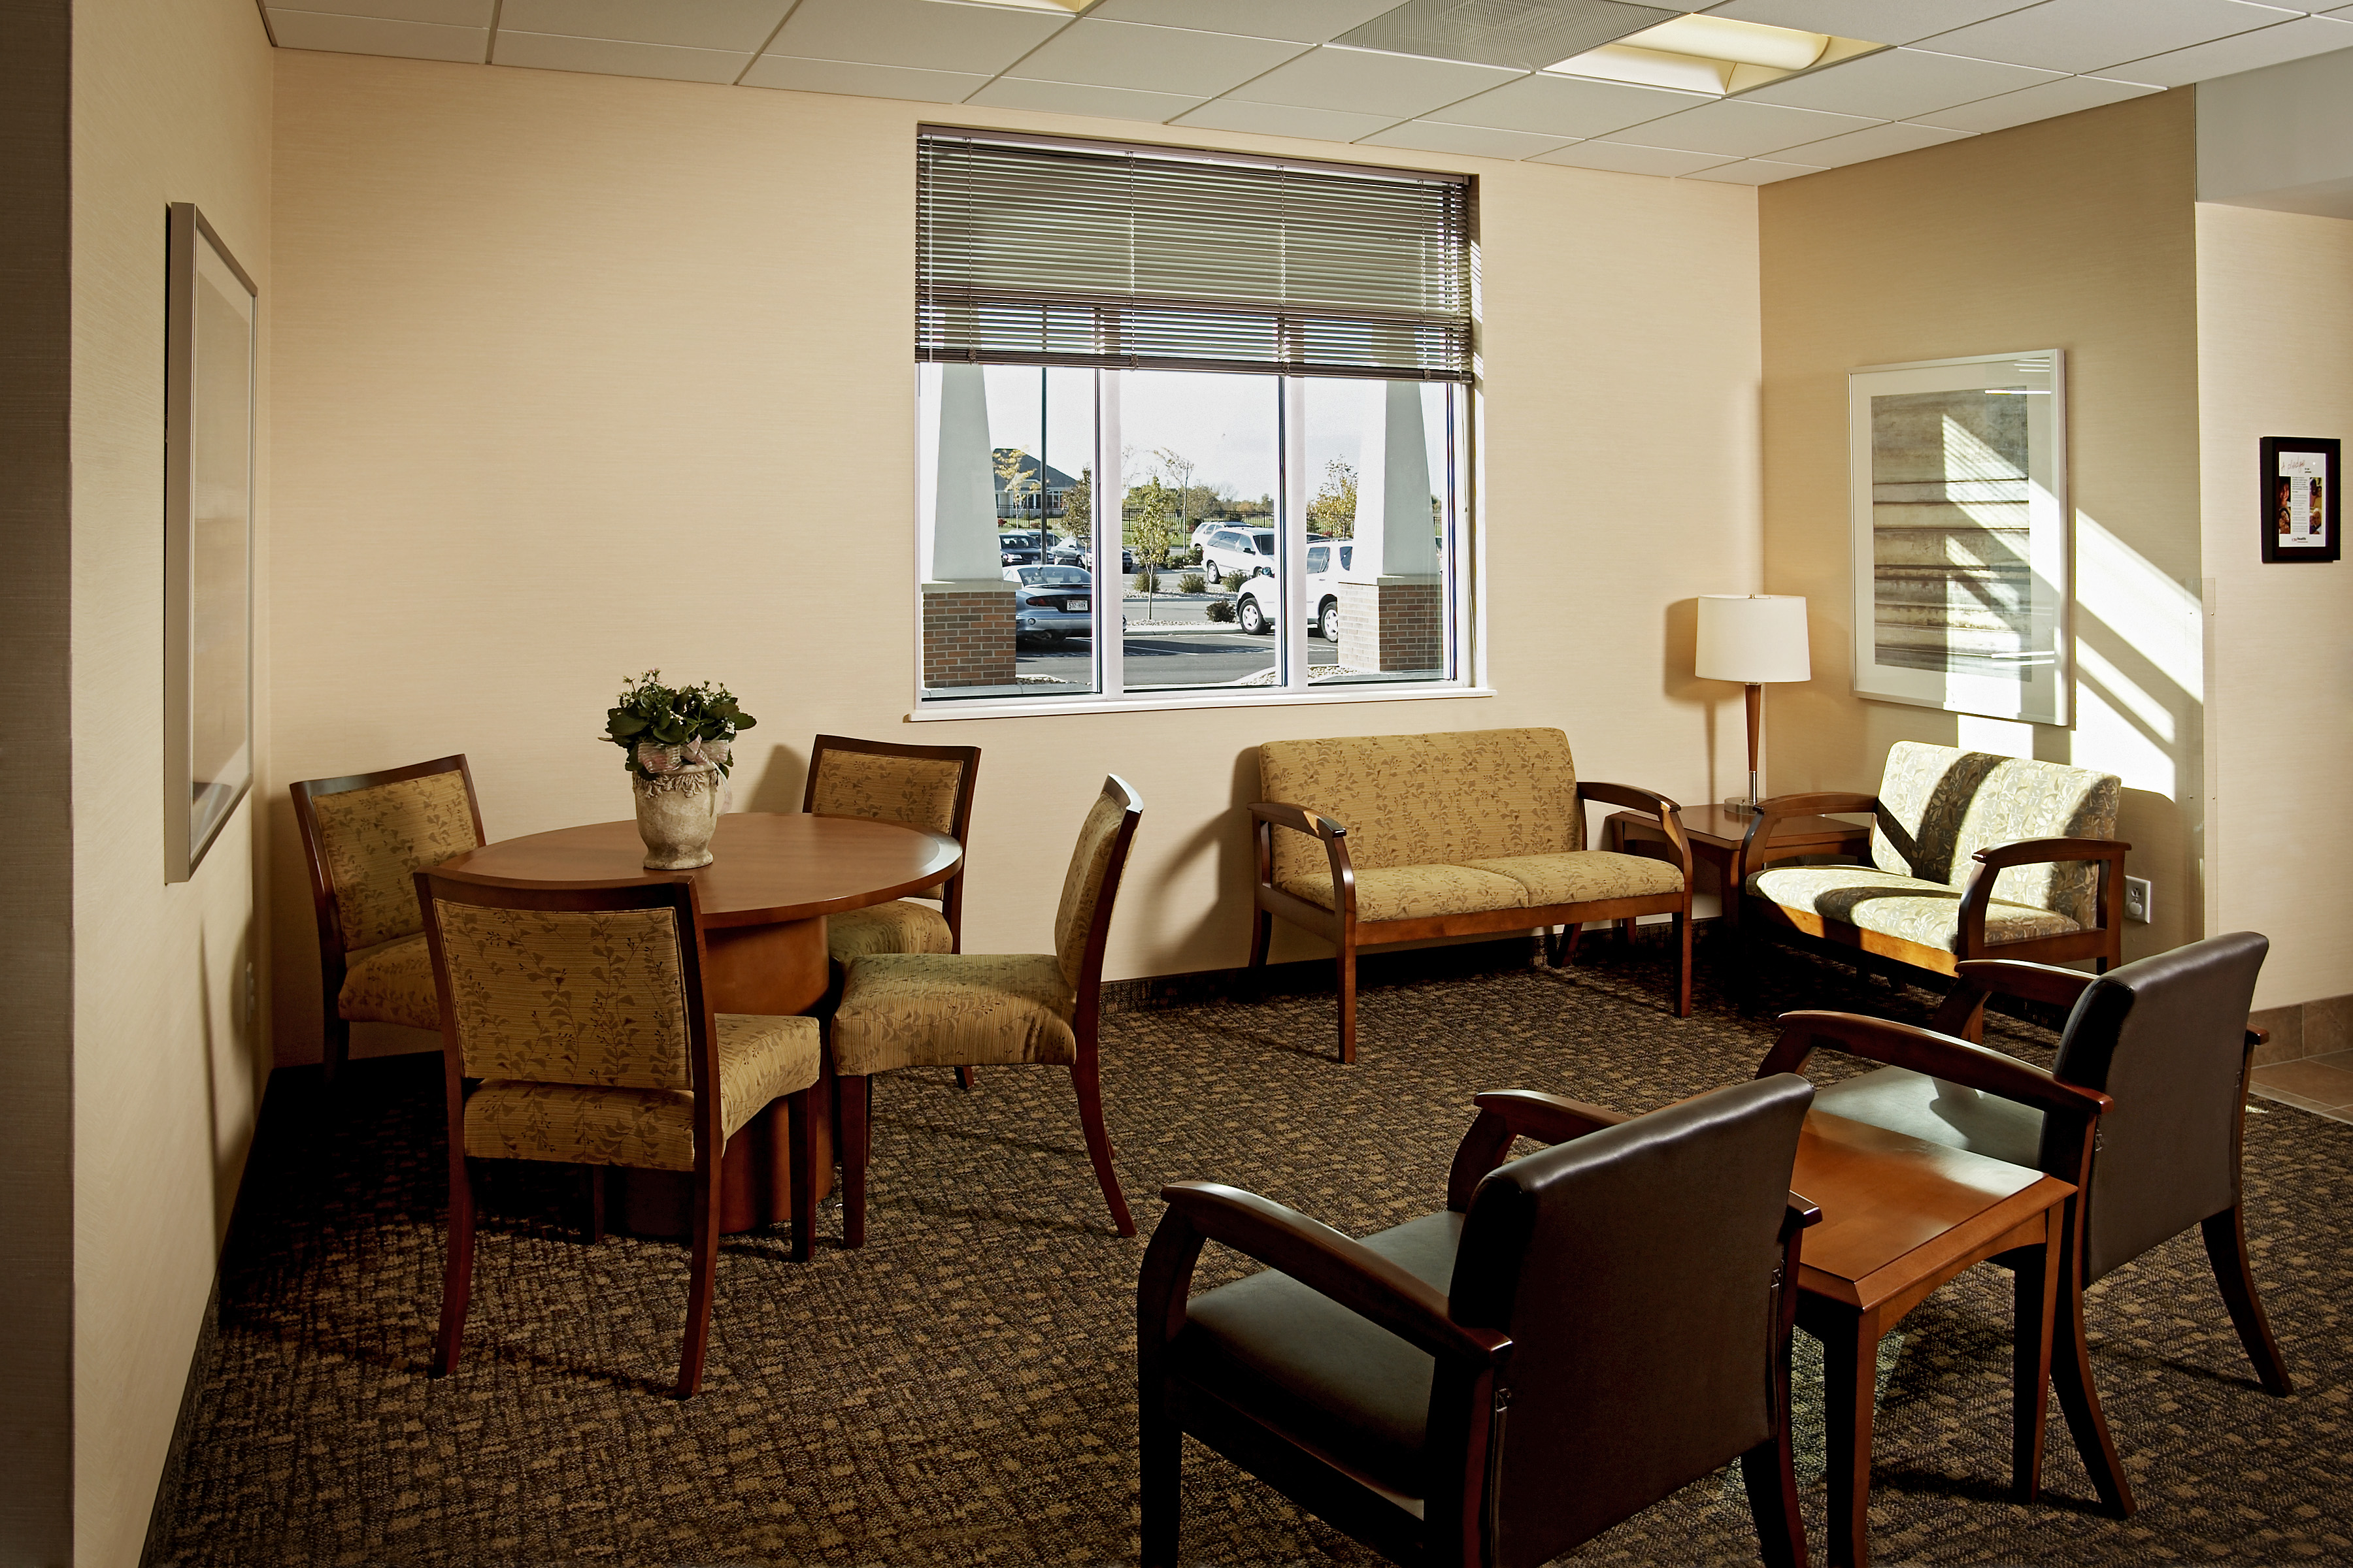
[[[475,1159],[694,1173],[678,1396],[704,1380],[725,1161],[786,1103],[793,1258],[816,1229],[809,1095],[816,1018],[713,1013],[692,879],[501,886],[416,872],[442,997],[449,1095],[449,1258],[433,1375],[456,1366],[473,1295]],[[468,1091],[468,1079],[478,1084]]]

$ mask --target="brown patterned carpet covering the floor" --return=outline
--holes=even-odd
[[[1106,1103],[1144,1234],[1174,1178],[1228,1180],[1362,1234],[1442,1204],[1480,1088],[1645,1110],[1753,1072],[1769,1023],[1706,987],[1678,1023],[1659,947],[1588,954],[1562,973],[1492,952],[1393,964],[1362,997],[1353,1070],[1329,1060],[1329,992],[1113,1013]],[[1845,1006],[1920,1020],[1927,1004],[1793,957],[1765,1018]],[[2047,1058],[2049,1037],[2024,1025],[1998,1020],[1988,1039]],[[680,1406],[664,1389],[685,1248],[586,1248],[562,1180],[492,1194],[466,1361],[428,1380],[438,1060],[358,1063],[336,1112],[301,1072],[280,1074],[148,1561],[1134,1561],[1144,1237],[1111,1234],[1066,1074],[991,1070],[972,1095],[946,1072],[904,1074],[875,1110],[866,1251],[833,1244],[831,1206],[814,1262],[788,1262],[781,1234],[727,1246],[711,1371]],[[2101,1389],[2141,1497],[2132,1521],[2094,1512],[2057,1413],[2049,1500],[2005,1502],[2007,1276],[1977,1269],[1918,1307],[1882,1347],[1878,1561],[2353,1559],[2348,1164],[2353,1126],[2249,1110],[2257,1276],[2294,1399],[2254,1387],[2195,1234],[2094,1291]],[[1231,1272],[1212,1248],[1205,1279]],[[1819,1356],[1802,1361],[1819,1378]],[[1819,1408],[1800,1446],[1819,1474]],[[1819,1486],[1807,1507],[1819,1554]],[[1184,1540],[1198,1563],[1374,1561],[1202,1448],[1186,1458]],[[1569,1561],[1744,1563],[1755,1535],[1739,1486],[1711,1479]]]

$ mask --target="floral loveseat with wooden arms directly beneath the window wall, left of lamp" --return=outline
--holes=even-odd
[[[1249,966],[1273,924],[1339,947],[1339,1058],[1355,1060],[1355,950],[1478,931],[1673,914],[1692,1013],[1692,849],[1675,802],[1633,785],[1579,783],[1558,729],[1268,741],[1249,806],[1257,886]],[[1586,802],[1647,811],[1675,860],[1586,849]],[[1275,832],[1282,827],[1285,832]]]

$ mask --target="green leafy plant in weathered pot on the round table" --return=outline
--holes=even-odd
[[[711,835],[727,809],[727,769],[736,731],[753,717],[715,682],[664,686],[661,670],[621,686],[605,712],[605,741],[626,755],[638,797],[645,867],[682,872],[711,865]]]

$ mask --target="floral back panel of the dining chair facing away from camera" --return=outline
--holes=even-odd
[[[715,1084],[692,879],[501,886],[416,872],[442,1041],[468,1079]]]

